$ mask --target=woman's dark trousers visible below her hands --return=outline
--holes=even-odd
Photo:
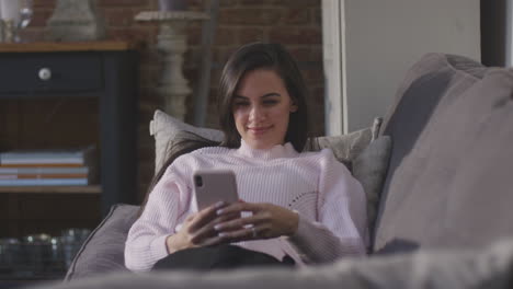
[[[159,259],[152,270],[160,269],[232,269],[252,266],[278,266],[294,267],[295,262],[289,256],[283,261],[275,257],[246,250],[235,245],[218,245],[207,247],[194,247],[178,251]]]

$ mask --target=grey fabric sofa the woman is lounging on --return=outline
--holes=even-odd
[[[367,163],[378,192],[367,257],[299,269],[133,274],[119,252],[138,207],[117,205],[65,282],[38,287],[513,288],[513,71],[425,55],[375,130],[377,139],[388,136],[391,149],[380,147],[388,148],[386,157],[367,154],[386,161],[381,174]]]

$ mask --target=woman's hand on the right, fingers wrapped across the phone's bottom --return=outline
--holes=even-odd
[[[243,211],[252,216],[232,219]],[[259,239],[272,239],[293,235],[299,224],[297,212],[272,204],[236,203],[217,210],[219,218],[231,217],[231,220],[217,223],[214,229],[225,242],[240,242]]]

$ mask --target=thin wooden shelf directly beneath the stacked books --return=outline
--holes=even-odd
[[[101,194],[100,185],[91,186],[0,186],[0,194]]]

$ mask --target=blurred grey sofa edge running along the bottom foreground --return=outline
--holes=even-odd
[[[513,241],[485,250],[426,251],[387,257],[345,258],[329,266],[299,270],[254,268],[197,274],[157,271],[112,274],[39,289],[180,288],[180,289],[499,289],[511,288]]]

